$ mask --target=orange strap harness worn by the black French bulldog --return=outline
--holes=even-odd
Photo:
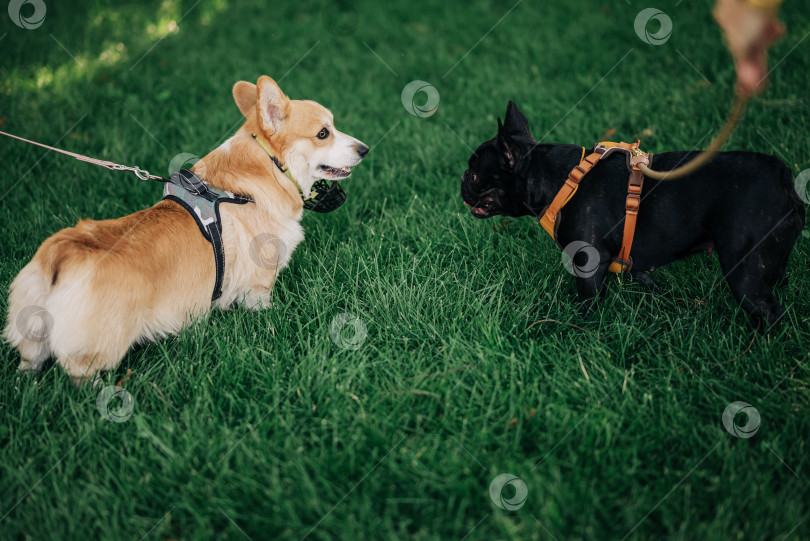
[[[635,143],[612,143],[602,141],[598,143],[591,154],[585,156],[585,147],[582,147],[582,160],[575,166],[568,178],[557,192],[554,200],[546,208],[540,217],[540,225],[543,226],[551,238],[557,240],[556,226],[560,210],[574,197],[579,188],[579,183],[594,166],[604,160],[614,152],[627,153],[627,164],[630,169],[630,179],[627,183],[627,199],[625,201],[624,237],[622,238],[622,248],[617,257],[613,258],[608,270],[615,273],[628,272],[633,266],[633,259],[630,257],[630,249],[633,247],[633,236],[636,232],[636,219],[638,209],[641,204],[641,188],[644,185],[644,175],[638,168],[639,164],[649,166],[651,156],[639,149],[641,141]]]

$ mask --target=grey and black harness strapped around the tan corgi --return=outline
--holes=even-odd
[[[225,275],[225,249],[222,246],[222,223],[219,216],[220,203],[244,205],[252,203],[249,197],[212,188],[188,169],[172,173],[163,188],[163,199],[176,201],[191,214],[205,240],[211,243],[216,265],[216,281],[211,302],[222,296],[222,281]]]

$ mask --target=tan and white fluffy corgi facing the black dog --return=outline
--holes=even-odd
[[[177,333],[214,306],[269,306],[304,238],[303,199],[319,179],[348,177],[368,147],[270,77],[236,83],[233,97],[244,125],[192,169],[209,187],[251,200],[219,206],[224,269],[178,201],[80,220],[48,238],[11,284],[4,337],[22,356],[20,370],[53,357],[80,383],[115,368],[134,343]]]

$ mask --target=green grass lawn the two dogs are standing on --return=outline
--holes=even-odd
[[[131,371],[125,422],[0,346],[0,538],[810,539],[808,230],[784,322],[753,339],[714,257],[655,271],[660,293],[611,276],[582,316],[535,220],[476,220],[459,196],[509,98],[547,142],[705,146],[734,80],[710,2],[654,6],[673,21],[658,46],[633,29],[649,4],[625,0],[46,3],[37,29],[0,13],[0,130],[167,174],[239,125],[234,82],[268,74],[371,153],[339,211],[304,217],[271,309],[215,312],[106,375]],[[795,175],[810,15],[782,16],[770,88],[727,148]],[[413,80],[435,115],[403,107]],[[45,238],[161,189],[3,140],[0,323]],[[343,313],[357,349],[330,338]],[[734,401],[754,437],[724,429]],[[519,509],[490,498],[504,473]]]

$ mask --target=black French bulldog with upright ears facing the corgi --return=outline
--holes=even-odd
[[[669,171],[697,154],[656,154],[652,168]],[[503,125],[498,119],[498,134],[470,157],[461,195],[476,218],[539,217],[581,157],[578,145],[538,144],[526,116],[510,101]],[[596,164],[557,218],[560,248],[580,241],[593,246],[592,253],[598,251],[594,272],[577,275],[579,301],[596,298],[621,248],[626,164],[620,152]],[[645,271],[714,249],[734,296],[764,330],[784,313],[773,288],[784,277],[804,219],[804,205],[781,160],[755,152],[722,152],[682,179],[645,178],[630,274],[652,284]]]

